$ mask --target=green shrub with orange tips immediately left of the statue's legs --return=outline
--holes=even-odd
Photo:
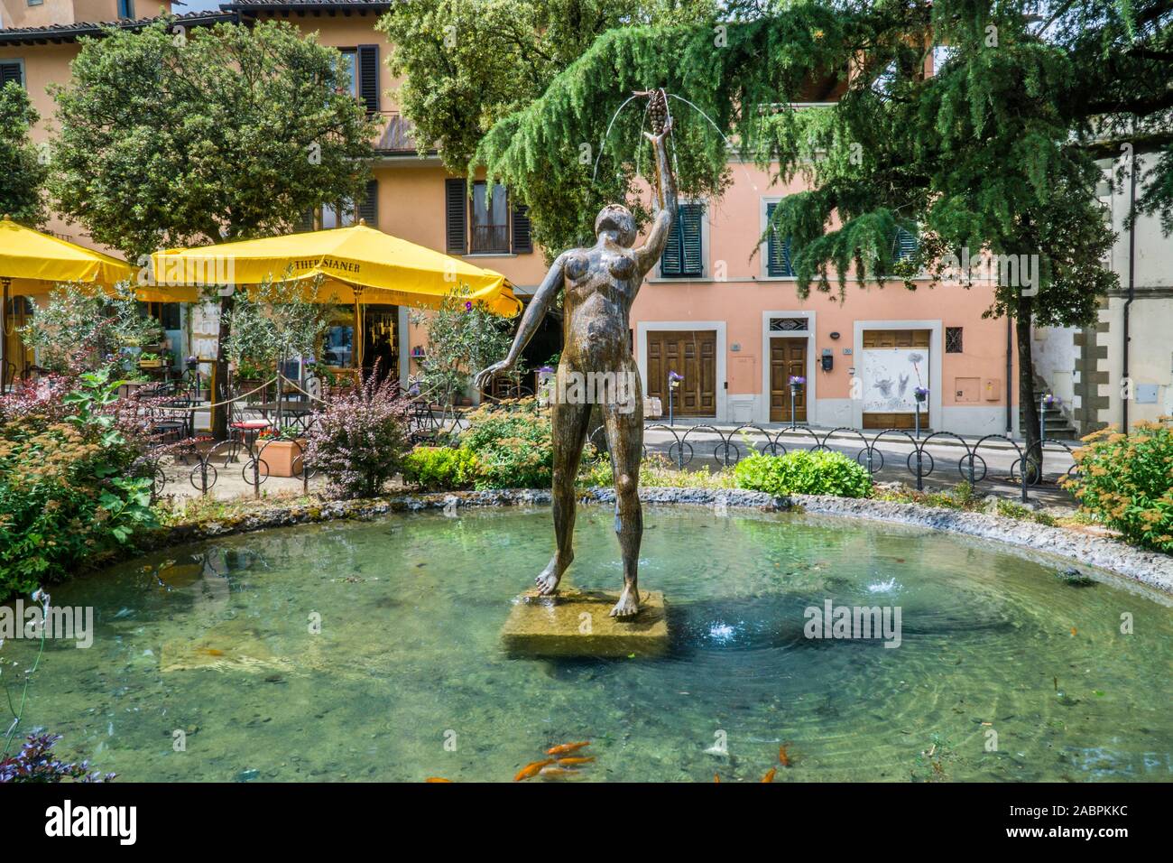
[[[461,446],[480,463],[477,488],[549,488],[554,481],[550,412],[534,398],[482,405],[468,416]]]

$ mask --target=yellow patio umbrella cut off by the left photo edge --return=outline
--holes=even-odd
[[[4,315],[11,296],[45,294],[57,282],[89,282],[103,289],[129,279],[124,261],[0,218],[0,286]],[[5,321],[7,326],[7,321]],[[8,368],[8,339],[0,338],[0,382]]]

